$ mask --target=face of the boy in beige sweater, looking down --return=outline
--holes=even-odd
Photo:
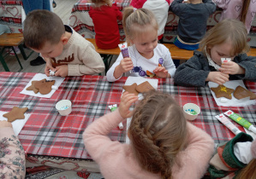
[[[45,58],[55,58],[63,53],[63,42],[60,41],[57,44],[51,44],[49,42],[45,42],[45,45],[42,49],[33,49],[34,51],[41,53],[41,55]]]

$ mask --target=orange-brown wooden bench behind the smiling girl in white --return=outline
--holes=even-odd
[[[110,55],[109,58],[111,58],[111,59],[112,59],[112,55],[119,55],[120,54],[119,47],[116,47],[115,49],[98,49],[98,46],[96,45],[94,38],[86,38],[86,40],[90,41],[94,45],[98,54]],[[120,43],[123,43],[123,42],[120,42]],[[173,44],[173,43],[163,43],[163,44],[167,49],[170,50],[170,55],[171,55],[171,58],[173,60],[188,61],[188,59],[190,59],[193,56],[193,50],[180,49],[180,48],[176,47],[176,45]],[[256,49],[251,48],[250,51],[247,53],[247,55],[256,56]],[[106,59],[104,61],[104,64],[105,64],[105,62],[107,62],[108,63],[107,67],[109,68],[111,59],[110,59],[109,62],[108,62],[108,59]]]

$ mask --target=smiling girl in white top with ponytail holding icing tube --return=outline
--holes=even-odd
[[[107,72],[110,82],[124,76],[171,78],[176,66],[170,51],[158,43],[158,22],[148,9],[128,7],[123,11],[122,26],[128,43],[129,57],[122,53]]]

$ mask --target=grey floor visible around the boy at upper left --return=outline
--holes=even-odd
[[[71,10],[73,8],[74,3],[76,3],[78,0],[55,0],[57,3],[57,7],[53,9],[53,12],[60,16],[60,18],[63,20],[63,24],[68,24],[69,15],[71,13]],[[29,51],[27,50],[27,53]],[[19,55],[21,65],[23,66],[23,69],[21,72],[41,72],[45,73],[45,64],[41,66],[30,66],[30,61],[33,61],[39,54],[33,53],[27,61],[24,61],[22,56]],[[15,56],[8,55],[5,57],[5,61],[7,65],[9,66],[10,72],[19,72],[20,66],[18,61],[16,60]],[[0,63],[0,72],[4,72],[3,66]]]

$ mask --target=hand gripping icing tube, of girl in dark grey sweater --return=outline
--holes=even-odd
[[[226,74],[244,74],[245,69],[234,61],[224,62],[219,70]]]

